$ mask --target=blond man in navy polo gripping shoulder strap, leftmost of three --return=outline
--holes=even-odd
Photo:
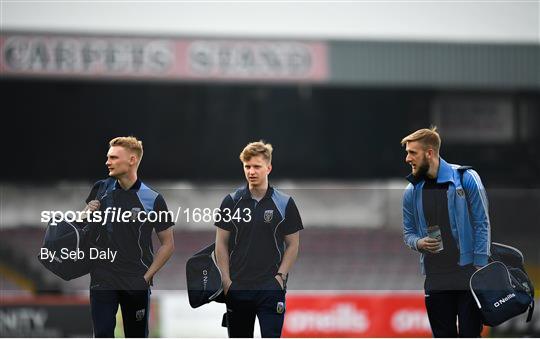
[[[86,200],[85,210],[100,211],[103,223],[93,225],[95,244],[114,257],[94,260],[90,272],[90,305],[95,337],[114,337],[116,313],[121,306],[126,337],[147,337],[150,286],[156,272],[174,251],[174,223],[165,200],[137,175],[143,156],[142,141],[118,137],[109,142],[109,178],[98,181]],[[126,215],[129,221],[113,217]],[[151,213],[160,216],[157,221]],[[165,217],[164,217],[165,216]],[[152,231],[161,243],[152,249]]]

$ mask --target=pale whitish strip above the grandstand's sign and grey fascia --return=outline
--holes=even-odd
[[[2,30],[540,43],[538,1],[2,1]]]

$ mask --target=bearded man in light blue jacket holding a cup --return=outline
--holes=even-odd
[[[412,168],[403,195],[403,236],[407,246],[420,252],[433,336],[479,337],[481,314],[469,291],[469,278],[490,255],[482,181],[470,167],[449,164],[439,156],[436,128],[420,129],[401,144]],[[435,225],[440,229],[437,239],[428,236],[428,227]]]

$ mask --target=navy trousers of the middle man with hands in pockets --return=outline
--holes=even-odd
[[[230,338],[252,338],[255,316],[263,338],[279,338],[285,319],[285,290],[272,277],[258,286],[233,281],[226,297],[227,330]]]

